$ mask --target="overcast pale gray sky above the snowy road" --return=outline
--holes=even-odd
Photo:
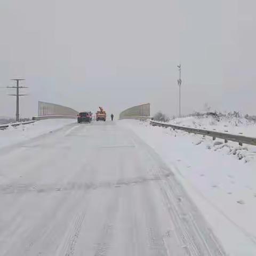
[[[37,101],[118,114],[139,103],[178,114],[255,114],[255,0],[1,0],[0,86],[26,78]],[[15,99],[0,89],[0,116]],[[9,89],[10,90],[10,89]]]

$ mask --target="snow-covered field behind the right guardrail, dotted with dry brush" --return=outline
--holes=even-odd
[[[249,137],[256,137],[256,123],[245,117],[222,116],[219,121],[213,116],[188,116],[174,118],[170,124],[195,127],[198,129],[228,132]]]

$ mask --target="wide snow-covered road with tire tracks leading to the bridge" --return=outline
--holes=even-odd
[[[0,255],[225,255],[161,158],[114,123],[0,149]]]

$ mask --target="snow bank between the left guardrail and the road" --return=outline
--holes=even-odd
[[[33,124],[10,126],[6,130],[0,130],[0,148],[35,138],[74,122],[74,119],[45,119]]]

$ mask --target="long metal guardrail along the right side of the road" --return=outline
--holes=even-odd
[[[161,123],[156,121],[150,121],[150,124],[153,126],[171,127],[173,130],[181,130],[189,133],[210,136],[213,138],[213,140],[215,140],[216,138],[223,139],[225,140],[225,143],[228,141],[234,141],[234,142],[238,142],[240,146],[242,146],[243,143],[256,146],[256,138],[253,138],[253,137],[246,137],[242,135],[235,135],[235,134],[224,133],[224,132],[215,132],[210,130],[197,129],[197,128],[179,126],[174,124],[166,124],[166,123]]]

